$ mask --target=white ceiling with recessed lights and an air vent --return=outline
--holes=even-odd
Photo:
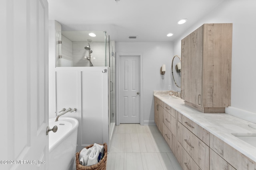
[[[63,31],[107,31],[116,42],[170,42],[223,1],[48,0],[49,20]],[[182,18],[188,22],[176,24]],[[131,35],[138,38],[128,39]]]

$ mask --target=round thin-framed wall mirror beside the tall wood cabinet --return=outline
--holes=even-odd
[[[177,87],[181,87],[181,59],[178,55],[172,58],[172,77]]]

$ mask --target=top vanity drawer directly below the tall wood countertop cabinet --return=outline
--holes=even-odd
[[[207,146],[209,146],[210,135],[204,128],[196,124],[194,121],[188,119],[186,116],[179,113],[178,121],[182,123],[188,130],[194,133],[199,139],[201,139]]]

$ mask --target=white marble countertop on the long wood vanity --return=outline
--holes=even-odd
[[[256,135],[256,129],[248,126],[254,125],[256,127],[256,124],[226,113],[202,113],[192,107],[186,106],[184,100],[180,98],[164,98],[164,94],[168,94],[168,92],[154,91],[154,96],[256,162],[256,147],[232,135],[239,133],[254,133]]]

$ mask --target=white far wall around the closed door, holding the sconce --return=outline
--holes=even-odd
[[[116,43],[117,53],[142,54],[144,122],[154,124],[154,90],[168,90],[171,83],[172,43]],[[116,63],[118,64],[118,63]],[[164,80],[160,67],[166,64]]]

